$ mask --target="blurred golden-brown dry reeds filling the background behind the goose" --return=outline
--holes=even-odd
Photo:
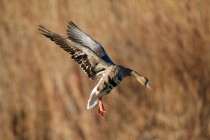
[[[210,139],[209,0],[1,0],[1,140]],[[94,83],[38,32],[65,35],[69,20],[118,64],[146,75],[86,110]]]

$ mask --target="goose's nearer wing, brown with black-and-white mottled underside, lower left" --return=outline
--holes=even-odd
[[[59,47],[68,52],[71,58],[80,65],[83,71],[92,80],[101,78],[101,73],[110,65],[99,58],[92,50],[79,43],[75,43],[68,38],[53,33],[42,25],[39,26],[39,30],[41,34],[54,41]]]

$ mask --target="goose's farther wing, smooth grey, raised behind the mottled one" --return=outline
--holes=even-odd
[[[101,59],[103,59],[107,63],[113,64],[112,60],[106,54],[106,51],[104,50],[104,48],[97,41],[95,41],[89,35],[87,35],[85,32],[80,30],[72,21],[69,22],[66,31],[67,31],[68,38],[70,40],[80,43],[83,46],[90,48]]]

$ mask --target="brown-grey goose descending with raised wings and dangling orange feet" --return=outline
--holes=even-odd
[[[69,53],[91,80],[97,81],[89,96],[87,110],[98,104],[97,114],[102,118],[106,114],[102,98],[110,93],[125,77],[132,76],[143,86],[151,89],[146,77],[130,68],[113,63],[102,45],[83,32],[72,21],[69,21],[67,25],[67,37],[54,33],[43,25],[39,25],[39,31]]]

